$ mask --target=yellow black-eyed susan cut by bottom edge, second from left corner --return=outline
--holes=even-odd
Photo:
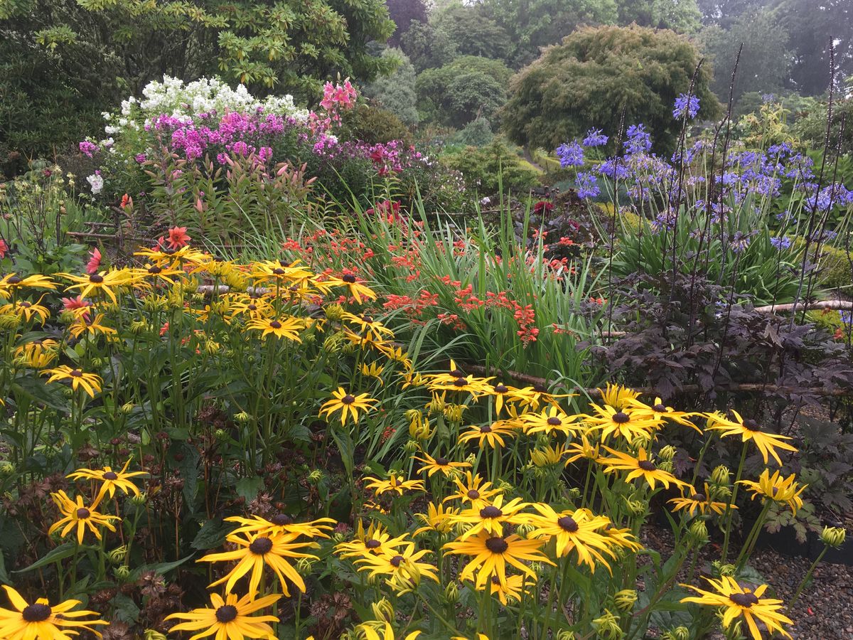
[[[194,638],[215,636],[216,640],[276,640],[277,636],[269,623],[278,622],[278,616],[252,614],[269,607],[279,598],[280,594],[273,594],[254,600],[248,594],[238,598],[235,593],[228,593],[223,600],[218,593],[212,593],[211,607],[167,615],[165,619],[187,620],[173,626],[171,631],[200,631]]]

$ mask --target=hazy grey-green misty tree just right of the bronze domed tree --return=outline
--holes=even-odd
[[[711,90],[720,100],[728,100],[732,68],[741,43],[744,49],[734,79],[734,99],[748,91],[775,93],[784,88],[791,59],[788,34],[769,11],[740,15],[728,30],[716,25],[705,27],[700,41],[714,68]]]

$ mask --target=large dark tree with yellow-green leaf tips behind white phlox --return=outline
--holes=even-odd
[[[392,30],[382,0],[0,0],[0,146],[49,153],[164,73],[218,73],[254,93],[313,99],[337,74],[371,80],[388,70],[392,61],[368,44]],[[79,124],[39,132],[55,113]]]

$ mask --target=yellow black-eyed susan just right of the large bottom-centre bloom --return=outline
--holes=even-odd
[[[610,570],[605,555],[615,558],[611,539],[601,533],[610,526],[610,519],[603,515],[593,515],[587,509],[555,511],[548,504],[533,503],[533,509],[539,512],[531,519],[533,531],[531,538],[554,540],[557,557],[568,556],[572,551],[577,554],[577,564],[586,564],[595,573],[596,562]]]

